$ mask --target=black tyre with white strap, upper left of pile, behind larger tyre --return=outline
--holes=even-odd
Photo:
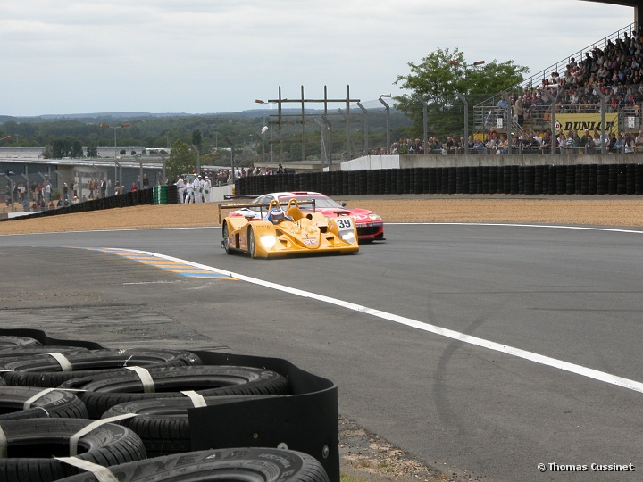
[[[13,386],[50,386],[55,387],[72,378],[102,375],[123,367],[167,367],[200,365],[202,362],[194,353],[174,350],[96,350],[67,357],[71,371],[62,371],[61,366],[51,356],[31,357],[28,360],[9,362],[7,370],[0,374]]]

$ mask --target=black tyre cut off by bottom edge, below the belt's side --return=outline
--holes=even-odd
[[[306,453],[273,448],[230,448],[180,453],[112,468],[119,482],[261,481],[329,482],[321,463]],[[59,482],[96,482],[91,474]]]

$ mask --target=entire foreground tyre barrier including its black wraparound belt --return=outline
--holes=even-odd
[[[355,184],[359,183],[355,181]],[[24,354],[20,359],[12,357],[13,361],[5,364],[23,371],[4,371],[4,378],[33,383],[32,378],[53,374],[56,378],[46,382],[53,384],[60,381],[57,377],[61,374],[64,378],[75,373],[83,377],[69,378],[62,384],[86,385],[84,388],[94,384],[96,388],[77,393],[68,387],[46,390],[33,386],[0,387],[0,480],[48,481],[79,474],[71,480],[94,482],[92,470],[96,464],[109,466],[110,474],[116,474],[121,481],[129,480],[129,474],[147,470],[154,470],[150,475],[154,480],[200,479],[199,475],[190,478],[162,469],[169,470],[171,466],[180,467],[181,474],[201,474],[205,470],[210,475],[215,470],[225,479],[246,480],[258,474],[263,480],[275,481],[339,480],[337,386],[286,360],[210,350],[175,352],[189,353],[190,362],[198,360],[202,365],[157,367],[148,364],[146,373],[152,378],[156,393],[123,393],[125,398],[131,395],[143,398],[125,402],[129,408],[123,409],[118,408],[122,400],[117,390],[136,391],[145,377],[138,374],[142,371],[138,367],[130,367],[136,371],[135,375],[122,369],[122,363],[111,366],[111,360],[117,358],[113,351],[94,342],[55,339],[29,328],[0,329],[0,337],[13,337],[10,344],[13,347],[26,342],[20,337],[30,337],[40,345],[29,342],[31,345],[26,344],[25,350],[44,348],[49,353]],[[52,356],[52,353],[78,352],[60,360]],[[152,362],[153,358],[159,358],[158,353],[172,352],[129,350],[127,353],[130,366]],[[92,362],[92,358],[96,361]],[[63,365],[84,370],[59,371]],[[101,373],[103,370],[110,371]],[[0,385],[4,378],[0,378]],[[181,394],[182,388],[191,392],[183,390]],[[75,396],[68,395],[70,391]],[[205,396],[197,395],[196,391]],[[86,404],[83,402],[86,397],[99,403]],[[154,403],[162,406],[153,408]],[[91,412],[88,405],[92,407]],[[71,418],[85,417],[84,410],[88,419]],[[121,417],[128,419],[98,420],[104,413],[114,411],[121,411]],[[18,420],[3,420],[3,415]],[[45,418],[19,419],[23,416]],[[54,418],[58,416],[66,418]],[[92,418],[96,420],[90,420]],[[129,426],[146,437],[145,444]],[[81,450],[70,452],[72,438],[78,438],[76,445]],[[184,449],[194,452],[147,459],[145,445],[150,446],[152,455]],[[208,454],[201,459],[199,451],[206,450]],[[76,456],[76,453],[81,454]],[[221,463],[221,457],[215,454],[223,454],[223,459],[230,464]],[[214,461],[219,462],[216,467],[208,465]],[[280,468],[280,464],[288,470]],[[243,468],[249,468],[250,472],[246,473]]]

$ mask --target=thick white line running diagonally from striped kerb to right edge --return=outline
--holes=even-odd
[[[449,223],[451,224],[451,223]],[[627,232],[627,231],[626,231]],[[633,232],[639,232],[639,231],[633,231]],[[641,234],[641,233],[639,233]],[[500,353],[506,353],[518,358],[522,358],[524,360],[529,360],[530,362],[536,362],[541,365],[546,365],[548,367],[553,367],[555,369],[559,370],[565,370],[569,371],[571,373],[576,373],[577,375],[581,375],[582,377],[587,377],[587,378],[593,378],[598,381],[602,381],[605,383],[609,383],[611,385],[615,386],[622,386],[623,388],[627,388],[629,390],[634,390],[635,392],[643,393],[643,383],[640,383],[635,380],[630,380],[629,378],[622,378],[622,377],[617,377],[615,375],[611,375],[609,373],[605,373],[604,371],[598,371],[598,370],[593,370],[587,367],[583,367],[582,365],[576,365],[574,363],[570,362],[564,362],[562,360],[557,360],[555,358],[551,358],[549,356],[544,356],[539,353],[533,353],[533,352],[528,352],[526,350],[521,350],[520,348],[514,348],[513,346],[508,346],[508,345],[501,345],[496,342],[492,342],[489,340],[485,340],[483,338],[479,337],[472,337],[470,335],[466,335],[464,333],[460,333],[459,331],[454,331],[453,329],[448,329],[448,328],[442,328],[438,327],[436,325],[431,325],[430,323],[425,323],[423,321],[418,321],[418,320],[413,320],[411,318],[406,318],[404,316],[399,316],[393,313],[388,313],[388,312],[382,312],[380,310],[375,310],[372,308],[368,308],[366,306],[362,306],[361,304],[355,304],[355,303],[349,303],[346,301],[338,300],[337,298],[331,298],[330,296],[324,296],[324,295],[318,295],[316,293],[311,293],[310,291],[304,291],[302,289],[297,289],[293,287],[286,287],[284,285],[280,285],[278,283],[272,283],[270,281],[264,281],[263,279],[257,279],[257,278],[251,278],[249,276],[245,276],[239,273],[234,273],[232,271],[226,271],[226,270],[219,270],[218,268],[213,268],[212,266],[206,266],[205,264],[199,264],[196,262],[189,262],[187,260],[181,260],[180,258],[173,258],[171,256],[165,256],[163,254],[158,254],[158,253],[150,253],[146,251],[137,251],[137,250],[129,250],[130,252],[135,252],[135,253],[145,253],[153,256],[157,256],[159,258],[163,258],[165,260],[169,261],[176,261],[176,262],[182,262],[185,264],[188,264],[190,266],[194,266],[196,268],[200,268],[202,270],[210,270],[216,273],[220,274],[225,274],[228,275],[232,278],[237,278],[242,281],[246,281],[248,283],[252,283],[254,285],[258,285],[261,287],[268,287],[271,289],[276,289],[278,291],[282,291],[284,293],[288,293],[290,295],[296,295],[296,296],[302,296],[304,298],[310,298],[313,300],[320,301],[322,303],[329,303],[333,304],[335,306],[339,306],[341,308],[345,308],[347,310],[353,310],[354,312],[360,312],[364,314],[368,314],[377,318],[380,318],[382,320],[388,320],[388,321],[393,321],[395,323],[398,323],[400,325],[405,325],[407,327],[411,328],[417,328],[421,329],[422,331],[427,331],[429,333],[434,333],[436,335],[440,335],[442,337],[447,337],[447,338],[452,338],[454,340],[459,340],[463,343],[467,343],[469,345],[476,345],[480,346],[482,348],[487,348],[489,350],[494,350]]]

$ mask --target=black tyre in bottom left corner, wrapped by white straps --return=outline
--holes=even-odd
[[[67,457],[70,437],[92,420],[28,419],[2,422],[6,459],[0,459],[0,480],[49,482],[84,473],[53,457]],[[146,458],[140,438],[129,428],[104,424],[79,438],[78,458],[105,467]]]

